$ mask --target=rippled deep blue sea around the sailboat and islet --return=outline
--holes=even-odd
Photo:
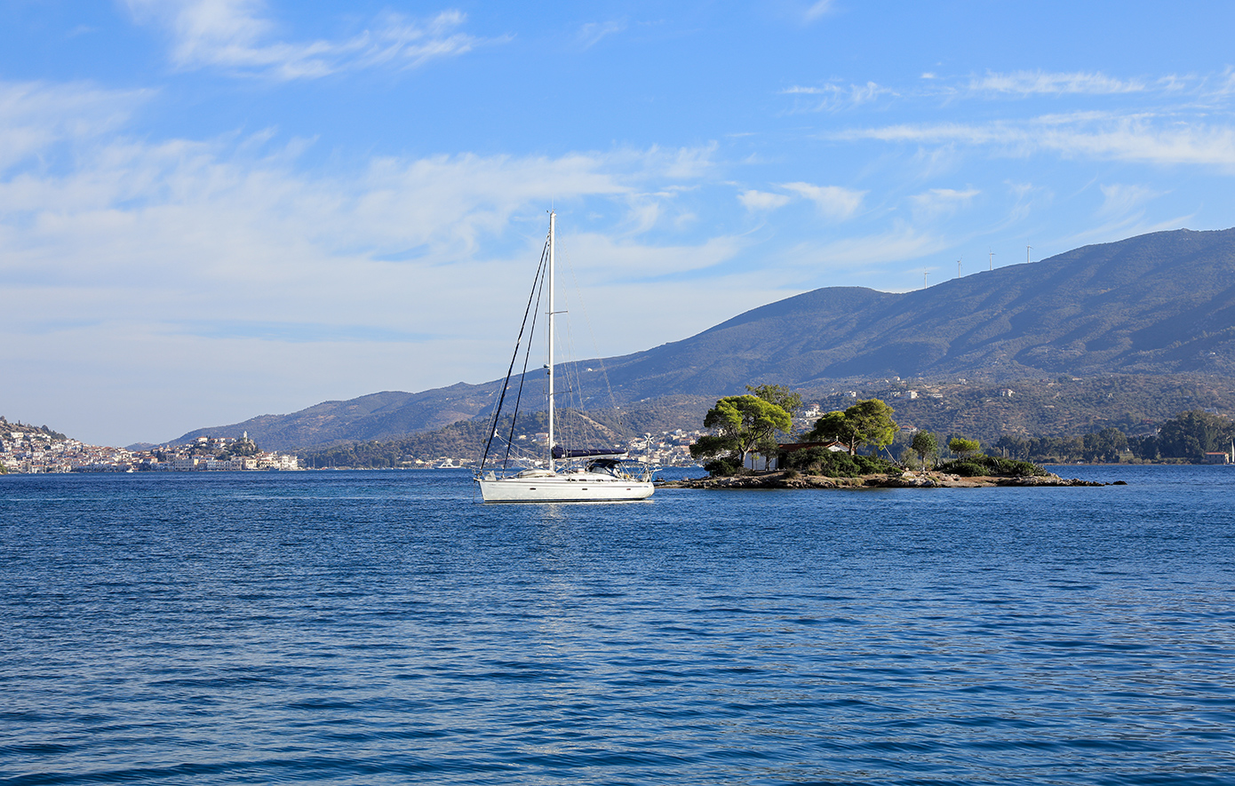
[[[1053,469],[0,476],[0,784],[1235,784],[1235,466]]]

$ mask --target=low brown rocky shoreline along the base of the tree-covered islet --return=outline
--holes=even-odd
[[[913,473],[862,475],[858,478],[826,478],[794,471],[768,471],[731,475],[727,478],[697,478],[657,484],[662,489],[982,489],[987,486],[1124,486],[1094,480],[1071,480],[1055,474],[1032,478],[978,476],[962,478],[946,473]]]

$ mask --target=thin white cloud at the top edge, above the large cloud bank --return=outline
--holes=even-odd
[[[458,32],[464,17],[443,11],[426,21],[387,14],[345,41],[285,42],[261,0],[127,0],[133,17],[164,28],[172,60],[184,69],[220,68],[273,79],[314,79],[341,70],[422,63],[469,52],[480,39]]]

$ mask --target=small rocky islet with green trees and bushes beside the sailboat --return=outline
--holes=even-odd
[[[947,449],[956,457],[940,461],[939,438],[914,434],[900,461],[881,458],[898,432],[893,408],[879,399],[827,412],[811,429],[782,442],[792,432],[802,397],[781,385],[747,386],[743,396],[716,402],[704,418],[711,433],[690,445],[704,460],[706,478],[667,481],[678,489],[978,489],[984,486],[1104,486],[1063,479],[1031,461],[982,453],[976,439],[953,436]],[[869,447],[872,455],[858,453]],[[889,454],[890,455],[890,454]],[[762,457],[763,469],[753,466]],[[1126,485],[1116,481],[1110,485]]]

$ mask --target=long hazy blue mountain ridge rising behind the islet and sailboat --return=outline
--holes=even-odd
[[[1156,232],[1086,246],[913,292],[826,288],[753,308],[683,341],[577,364],[604,369],[584,408],[682,406],[751,383],[815,391],[845,380],[1060,374],[1235,376],[1235,230]],[[592,369],[598,369],[593,371]],[[542,376],[529,375],[525,396]],[[190,432],[248,431],[273,449],[390,439],[487,411],[496,383],[327,401]],[[532,400],[540,400],[532,399]],[[656,406],[663,406],[658,403]],[[235,434],[233,434],[235,432]]]

